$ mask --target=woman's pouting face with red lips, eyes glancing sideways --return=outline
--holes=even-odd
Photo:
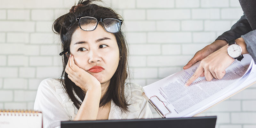
[[[77,28],[72,35],[70,53],[75,64],[92,74],[101,84],[111,79],[119,62],[116,37],[100,25],[93,31]]]

